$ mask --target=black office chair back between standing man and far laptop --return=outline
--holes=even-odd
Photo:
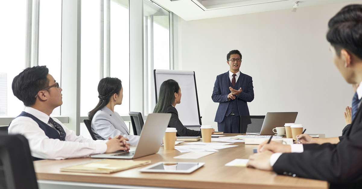
[[[260,133],[265,116],[240,116],[240,133]]]

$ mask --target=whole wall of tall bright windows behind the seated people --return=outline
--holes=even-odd
[[[52,116],[77,134],[88,135],[81,123],[98,103],[97,86],[104,77],[122,81],[123,102],[115,111],[125,120],[130,107],[146,116],[153,111],[153,69],[170,69],[167,10],[150,0],[1,1],[0,18],[0,116],[15,117],[24,109],[12,93],[12,80],[36,65],[46,65],[67,89],[63,109],[54,109]],[[140,32],[130,35],[130,30]],[[144,98],[130,102],[130,91]],[[0,125],[9,122],[0,117]]]

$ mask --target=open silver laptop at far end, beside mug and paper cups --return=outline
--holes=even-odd
[[[267,112],[260,126],[258,124],[249,124],[246,134],[274,135],[273,128],[284,126],[286,123],[294,123],[298,112]]]

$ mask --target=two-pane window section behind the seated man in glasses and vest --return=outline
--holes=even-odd
[[[0,18],[3,18],[0,30],[0,116],[17,116],[24,109],[24,104],[13,95],[11,84],[26,67],[46,65],[60,82],[62,1],[29,2],[33,4],[27,6],[25,0],[0,3]],[[60,115],[60,108],[56,108],[52,115]]]

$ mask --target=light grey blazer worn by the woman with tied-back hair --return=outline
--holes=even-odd
[[[94,114],[90,127],[97,139],[108,139],[108,137],[113,138],[122,135],[130,140],[128,142],[131,145],[137,145],[139,141],[139,136],[130,135],[122,117],[107,107],[103,107]]]

